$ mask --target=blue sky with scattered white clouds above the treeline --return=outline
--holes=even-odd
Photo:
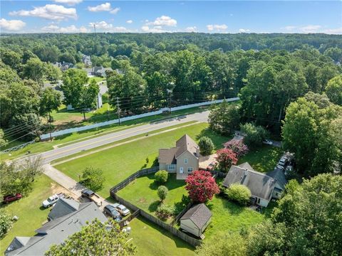
[[[1,0],[1,32],[335,33],[342,1]]]

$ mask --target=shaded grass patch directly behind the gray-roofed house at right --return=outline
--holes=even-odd
[[[263,145],[258,149],[249,151],[248,154],[239,159],[238,164],[249,162],[255,171],[268,172],[272,171],[279,159],[281,158],[282,150],[276,146]]]

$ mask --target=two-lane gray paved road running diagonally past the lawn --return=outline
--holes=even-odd
[[[148,132],[155,131],[156,129],[170,127],[175,124],[182,124],[182,123],[190,122],[190,121],[207,122],[208,114],[209,114],[209,111],[205,111],[201,113],[187,114],[187,115],[180,116],[180,117],[174,117],[171,119],[152,122],[150,124],[144,124],[138,127],[133,127],[129,129],[124,129],[122,131],[105,134],[103,136],[95,137],[93,139],[87,139],[82,142],[76,142],[67,146],[63,146],[58,149],[45,151],[38,155],[42,157],[43,164],[47,164],[63,156],[68,156],[70,154],[75,154],[80,151],[93,149],[97,146],[103,146],[105,144],[117,142],[121,139],[127,139],[129,137],[133,137],[136,135],[147,134]],[[32,156],[28,156],[28,157],[32,157]]]

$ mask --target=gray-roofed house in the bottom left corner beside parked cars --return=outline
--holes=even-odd
[[[37,235],[14,238],[5,255],[44,255],[51,245],[61,244],[95,218],[102,222],[107,220],[95,203],[78,203],[61,198],[48,214],[50,221],[36,230]]]

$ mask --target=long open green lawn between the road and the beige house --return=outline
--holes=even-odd
[[[221,137],[206,128],[207,124],[204,123],[193,124],[172,132],[145,137],[145,139],[137,142],[115,146],[111,149],[56,165],[55,167],[75,180],[78,180],[78,174],[81,174],[87,166],[102,169],[105,183],[103,189],[98,191],[98,193],[103,197],[107,197],[110,188],[135,173],[135,171],[152,166],[153,161],[157,157],[158,150],[175,146],[177,139],[180,139],[184,134],[189,134],[195,140],[198,140],[202,134],[205,134],[212,138],[217,147],[222,146],[222,143],[228,140],[227,137]],[[146,158],[149,159],[148,164],[146,164]]]

